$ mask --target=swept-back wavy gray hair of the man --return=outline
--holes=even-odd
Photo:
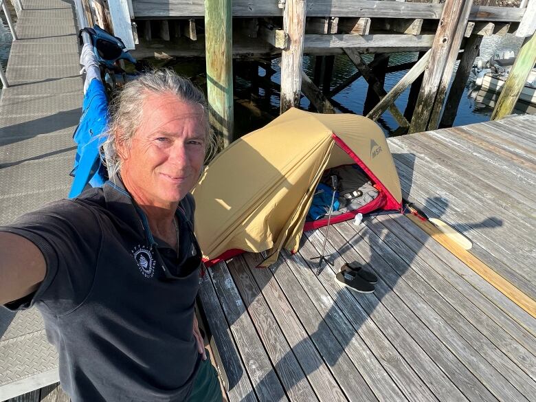
[[[142,74],[127,83],[110,104],[110,120],[108,129],[103,134],[106,139],[102,144],[104,162],[110,178],[120,172],[122,167],[117,145],[130,146],[134,133],[142,122],[144,101],[155,93],[172,93],[183,102],[199,104],[203,108],[206,125],[205,163],[214,157],[218,147],[208,123],[208,104],[205,96],[190,80],[178,76],[172,70],[159,69]]]

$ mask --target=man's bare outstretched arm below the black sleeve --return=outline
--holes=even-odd
[[[0,232],[0,304],[33,293],[45,278],[45,258],[34,243]]]

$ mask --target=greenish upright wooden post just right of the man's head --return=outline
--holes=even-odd
[[[227,146],[234,128],[232,0],[205,0],[205,57],[210,124]]]

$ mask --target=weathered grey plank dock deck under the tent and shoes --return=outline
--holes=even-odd
[[[403,196],[535,300],[536,116],[388,139]],[[337,223],[270,269],[244,254],[201,297],[230,401],[532,401],[536,320],[402,214]],[[357,261],[364,295],[335,282]],[[534,314],[534,311],[533,311]]]

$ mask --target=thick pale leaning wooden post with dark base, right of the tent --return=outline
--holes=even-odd
[[[467,25],[471,0],[446,0],[432,44],[429,68],[425,70],[423,86],[418,94],[410,133],[425,131],[431,122],[438,124],[450,74],[458,57],[458,50]],[[448,76],[448,77],[447,77]],[[437,106],[436,106],[437,104]]]

